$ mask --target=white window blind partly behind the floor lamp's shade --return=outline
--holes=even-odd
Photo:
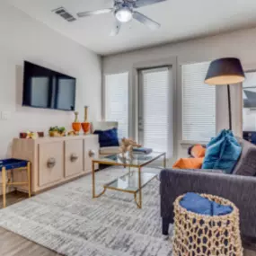
[[[209,141],[216,135],[216,86],[204,83],[209,62],[181,66],[182,140]]]

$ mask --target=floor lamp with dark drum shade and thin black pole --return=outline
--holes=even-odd
[[[210,85],[227,85],[227,101],[228,101],[228,116],[229,129],[232,130],[232,113],[230,99],[230,84],[242,83],[245,79],[243,66],[238,58],[224,57],[211,62],[207,76],[206,84]]]

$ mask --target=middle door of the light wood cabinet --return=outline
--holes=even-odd
[[[83,172],[83,139],[65,143],[65,177]]]

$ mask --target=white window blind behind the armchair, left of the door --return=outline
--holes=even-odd
[[[128,137],[128,73],[105,75],[105,119],[119,122],[119,138]]]

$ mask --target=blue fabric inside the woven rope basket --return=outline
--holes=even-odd
[[[191,212],[207,216],[223,216],[233,211],[233,207],[217,204],[196,193],[187,193],[180,205]]]

